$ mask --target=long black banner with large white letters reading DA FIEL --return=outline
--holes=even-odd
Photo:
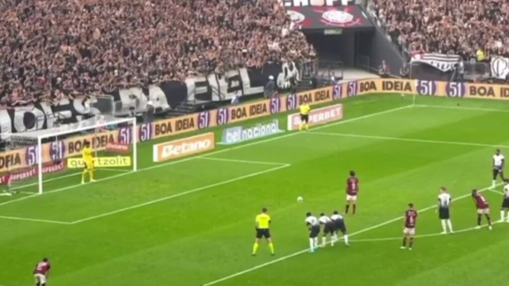
[[[127,116],[133,109],[145,112],[149,101],[156,112],[173,109],[183,102],[230,101],[234,96],[262,94],[273,76],[279,89],[290,86],[292,77],[299,78],[294,63],[268,63],[261,69],[238,69],[207,77],[187,78],[185,81],[167,81],[147,88],[118,90],[96,99],[86,97],[64,99],[56,105],[41,102],[27,106],[0,109],[0,132],[17,133],[54,127],[55,123],[72,124],[104,111],[101,107],[114,104],[116,116]],[[106,108],[107,109],[107,108]]]

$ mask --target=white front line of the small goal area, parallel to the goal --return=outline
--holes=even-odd
[[[176,197],[179,197],[179,196],[183,196],[183,195],[199,192],[199,191],[202,191],[202,190],[205,190],[205,189],[210,189],[210,188],[213,188],[213,187],[222,186],[222,185],[225,185],[225,184],[233,183],[233,182],[236,182],[236,181],[240,181],[240,180],[244,180],[244,179],[247,179],[247,178],[251,178],[251,177],[258,176],[258,175],[262,175],[262,174],[265,174],[265,173],[269,173],[269,172],[272,172],[272,171],[276,171],[276,170],[279,170],[279,169],[282,169],[282,168],[286,168],[288,166],[290,166],[290,165],[286,164],[286,165],[283,165],[283,166],[278,166],[278,167],[275,167],[275,168],[270,168],[268,170],[259,171],[257,173],[245,175],[245,176],[238,177],[238,178],[235,178],[235,179],[230,179],[230,180],[227,180],[227,181],[222,181],[222,182],[219,182],[219,183],[215,183],[215,184],[211,184],[211,185],[195,188],[195,189],[184,191],[184,192],[181,192],[181,193],[176,193],[176,194],[173,194],[173,195],[169,195],[169,196],[161,197],[161,198],[158,198],[158,199],[154,199],[153,201],[142,203],[142,204],[139,204],[139,205],[123,208],[123,209],[116,210],[116,211],[111,211],[111,212],[100,214],[100,215],[91,216],[91,217],[88,217],[88,218],[83,218],[83,219],[75,220],[73,222],[70,222],[70,224],[76,224],[76,223],[80,223],[80,222],[84,222],[84,221],[89,221],[89,220],[93,220],[93,219],[97,219],[97,218],[101,218],[101,217],[105,217],[105,216],[109,216],[109,215],[118,214],[118,213],[125,212],[125,211],[132,210],[132,209],[137,209],[137,208],[145,207],[145,206],[152,205],[152,204],[155,204],[155,203],[159,203],[159,202],[162,202],[162,201],[167,201],[168,199],[176,198]]]

